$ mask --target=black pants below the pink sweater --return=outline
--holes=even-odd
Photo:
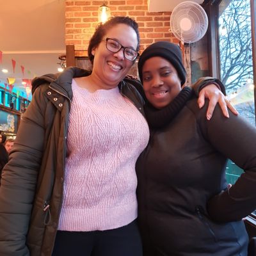
[[[52,256],[142,256],[136,221],[104,231],[58,231]]]

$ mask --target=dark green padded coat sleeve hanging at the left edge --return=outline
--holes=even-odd
[[[0,255],[29,256],[26,235],[44,150],[45,99],[36,89],[22,115],[0,186]]]

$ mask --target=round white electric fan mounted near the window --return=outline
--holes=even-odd
[[[200,4],[185,1],[172,11],[170,30],[183,44],[191,44],[200,40],[206,33],[208,18]]]

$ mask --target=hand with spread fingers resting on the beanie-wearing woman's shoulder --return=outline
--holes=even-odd
[[[211,119],[212,113],[217,103],[220,104],[223,115],[227,118],[229,117],[227,108],[229,108],[230,111],[234,113],[234,115],[238,115],[236,108],[232,106],[232,104],[229,102],[229,100],[227,100],[225,95],[220,91],[216,84],[208,84],[200,91],[198,97],[199,108],[202,108],[204,106],[205,99],[209,99],[209,106],[206,113],[207,120]]]

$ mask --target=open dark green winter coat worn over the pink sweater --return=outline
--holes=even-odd
[[[33,81],[33,100],[3,169],[0,187],[0,255],[51,256],[61,209],[72,78],[88,76],[68,68]],[[125,79],[118,87],[143,114],[143,98]],[[29,254],[30,253],[30,254]]]

